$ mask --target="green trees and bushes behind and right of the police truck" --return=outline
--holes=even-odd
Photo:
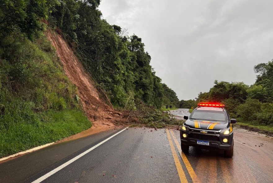
[[[222,102],[230,117],[254,125],[273,125],[273,60],[254,66],[256,82],[214,81],[208,92],[200,92],[196,100],[181,100],[178,107],[196,107],[200,101]]]

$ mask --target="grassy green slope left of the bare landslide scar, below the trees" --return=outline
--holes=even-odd
[[[0,41],[0,157],[91,126],[55,50],[18,31]]]

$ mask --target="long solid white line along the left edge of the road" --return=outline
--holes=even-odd
[[[126,130],[128,127],[124,128],[123,130],[120,130],[119,132],[117,132],[116,134],[112,135],[109,138],[106,138],[104,141],[98,143],[97,145],[91,147],[90,149],[84,151],[83,153],[77,155],[76,157],[74,157],[73,159],[67,161],[66,163],[60,165],[59,167],[51,170],[50,172],[48,172],[47,174],[43,175],[42,177],[36,179],[35,181],[33,181],[32,183],[39,183],[42,182],[43,180],[45,180],[46,178],[50,177],[51,175],[53,175],[54,173],[58,172],[59,170],[65,168],[67,165],[73,163],[74,161],[78,160],[79,158],[81,158],[82,156],[86,155],[88,152],[92,151],[93,149],[95,149],[96,147],[99,147],[101,144],[105,143],[106,141],[110,140],[111,138],[113,138],[114,136],[116,136],[117,134],[123,132],[124,130]]]

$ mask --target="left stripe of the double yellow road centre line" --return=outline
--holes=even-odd
[[[178,175],[179,175],[179,178],[180,178],[180,181],[182,183],[187,183],[187,179],[186,179],[186,175],[183,171],[183,168],[180,164],[180,161],[179,161],[179,158],[178,158],[178,155],[175,151],[175,148],[173,146],[173,143],[172,143],[172,138],[171,138],[171,135],[170,135],[170,132],[168,129],[166,129],[166,132],[167,132],[167,135],[168,135],[168,139],[169,139],[169,143],[170,143],[170,147],[171,147],[171,150],[172,150],[172,156],[173,156],[173,159],[174,159],[174,163],[176,165],[176,168],[177,168],[177,172],[178,172]]]

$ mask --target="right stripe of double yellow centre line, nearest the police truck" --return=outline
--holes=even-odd
[[[195,172],[194,172],[192,166],[190,165],[190,162],[189,162],[189,160],[187,159],[186,155],[184,154],[184,152],[181,151],[180,145],[179,145],[179,143],[178,143],[178,141],[177,141],[177,138],[175,138],[175,135],[174,135],[174,133],[173,133],[172,130],[171,130],[171,134],[172,134],[172,138],[173,138],[173,140],[174,140],[174,143],[176,144],[176,147],[177,147],[177,149],[178,149],[178,151],[179,151],[179,153],[180,153],[180,155],[181,155],[181,157],[182,157],[182,160],[183,160],[184,164],[186,165],[186,168],[187,168],[187,170],[188,170],[188,172],[189,172],[189,174],[190,174],[190,177],[191,177],[192,181],[193,181],[194,183],[195,183],[195,182],[196,182],[196,183],[199,183],[200,181],[199,181],[197,175],[195,174]]]

